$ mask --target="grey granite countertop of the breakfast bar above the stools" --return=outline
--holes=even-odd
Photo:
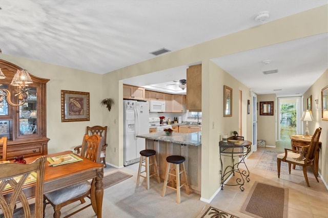
[[[196,133],[174,133],[172,136],[167,136],[165,132],[150,133],[145,135],[138,135],[139,138],[158,140],[163,142],[172,142],[183,145],[201,145],[201,132]]]

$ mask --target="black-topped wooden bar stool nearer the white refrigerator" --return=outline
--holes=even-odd
[[[138,178],[137,178],[137,185],[139,185],[140,177],[146,179],[147,189],[149,189],[149,178],[152,176],[157,176],[157,182],[160,183],[159,173],[158,173],[158,166],[156,161],[156,151],[151,149],[141,150],[140,151],[140,161],[139,161],[139,170],[138,170]],[[152,162],[150,163],[150,157],[152,157]],[[154,171],[150,171],[150,166],[155,164]],[[141,171],[141,167],[144,166],[145,170]],[[146,176],[141,175],[141,173],[146,172]]]

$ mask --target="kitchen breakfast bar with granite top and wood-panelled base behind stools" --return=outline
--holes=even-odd
[[[190,189],[200,194],[201,132],[173,133],[172,136],[167,136],[163,131],[137,137],[146,139],[146,149],[156,151],[159,176],[162,181],[165,179],[166,158],[171,155],[185,157]]]

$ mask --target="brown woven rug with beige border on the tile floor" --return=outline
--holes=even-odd
[[[288,188],[255,182],[240,211],[254,217],[286,218]]]

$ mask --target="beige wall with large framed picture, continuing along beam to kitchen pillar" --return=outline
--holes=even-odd
[[[270,23],[240,31],[151,60],[133,64],[105,75],[82,72],[27,59],[2,55],[33,75],[50,79],[47,85],[47,136],[49,152],[61,151],[80,144],[87,125],[108,125],[107,161],[123,166],[122,79],[144,75],[186,64],[202,63],[202,184],[201,199],[210,201],[220,189],[218,141],[219,134],[238,129],[238,90],[242,90],[242,105],[247,105],[249,89],[221,70],[211,58],[229,55],[284,41],[327,32],[327,7],[295,14]],[[311,28],[309,28],[311,27]],[[95,63],[96,64],[96,63]],[[109,63],[110,64],[110,63]],[[236,63],[238,64],[238,63]],[[242,72],[241,72],[242,73]],[[233,117],[223,118],[223,85],[233,88]],[[90,92],[90,121],[60,121],[60,90]],[[100,106],[103,98],[112,98],[111,112]],[[243,107],[243,135],[252,140],[252,116]],[[265,128],[267,124],[265,124]],[[323,127],[323,126],[322,126]],[[258,125],[261,129],[263,126]],[[273,129],[274,126],[272,127]],[[273,130],[274,131],[274,130]],[[116,148],[116,152],[114,151]],[[252,176],[251,176],[252,177]]]

